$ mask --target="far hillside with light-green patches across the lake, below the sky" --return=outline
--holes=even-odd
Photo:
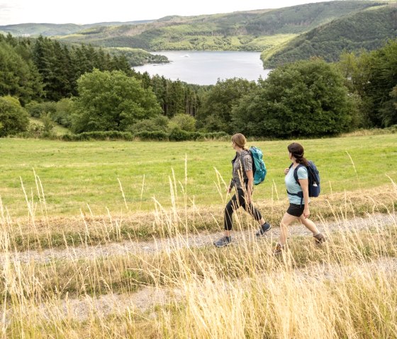
[[[328,1],[257,11],[168,16],[142,25],[95,27],[62,40],[144,50],[269,50],[335,18],[381,1]]]

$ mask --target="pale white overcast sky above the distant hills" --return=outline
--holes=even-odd
[[[101,23],[281,8],[330,0],[0,0],[0,25]]]

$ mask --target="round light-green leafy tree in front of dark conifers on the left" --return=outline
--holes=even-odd
[[[161,113],[151,88],[123,71],[94,69],[77,81],[75,132],[125,131],[138,120]]]

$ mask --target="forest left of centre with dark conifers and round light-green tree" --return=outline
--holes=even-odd
[[[49,38],[0,35],[1,135],[28,127],[23,124],[19,130],[7,130],[5,121],[11,122],[7,107],[15,103],[32,117],[50,118],[73,132],[136,132],[134,123],[152,113],[167,120],[182,113],[193,119],[201,105],[200,93],[205,91],[206,86],[138,74],[123,54],[112,56],[91,45],[68,47]],[[106,108],[109,117],[105,117]],[[96,117],[87,117],[91,113]]]

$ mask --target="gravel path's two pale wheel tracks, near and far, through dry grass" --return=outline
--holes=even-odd
[[[334,231],[357,231],[362,229],[379,227],[396,224],[396,215],[371,214],[365,218],[355,218],[350,220],[341,220],[340,222],[323,222],[318,223],[318,227],[325,233]],[[290,227],[291,236],[310,236],[310,232],[304,226],[295,224]],[[104,255],[122,255],[123,253],[156,253],[157,251],[174,251],[176,248],[212,246],[212,242],[221,232],[216,234],[191,234],[189,236],[180,236],[172,239],[158,239],[157,241],[133,242],[125,241],[123,243],[111,243],[104,246],[94,247],[77,247],[63,250],[45,250],[41,253],[37,251],[27,251],[21,253],[1,253],[0,261],[6,260],[9,256],[11,260],[27,262],[37,260],[46,262],[48,260],[71,260],[78,258],[93,258],[94,256]],[[262,238],[263,241],[276,239],[279,235],[279,228],[276,227],[269,234]],[[255,230],[236,232],[233,243],[240,241],[254,241]],[[255,240],[256,241],[256,240]],[[360,268],[364,272],[374,272],[375,274],[392,274],[397,272],[397,258],[379,258],[369,263],[362,263]],[[313,264],[306,268],[299,268],[293,271],[293,275],[302,280],[334,280],[346,276],[351,272],[358,272],[357,265],[337,266],[336,264]],[[274,280],[276,275],[281,272],[269,272],[263,276],[264,280]],[[241,282],[242,284],[244,282]],[[48,321],[59,320],[60,318],[73,318],[78,321],[84,321],[91,315],[103,317],[110,314],[125,315],[147,312],[147,316],[155,318],[153,307],[180,301],[183,293],[177,289],[166,290],[159,287],[144,287],[133,294],[105,294],[98,297],[79,297],[76,299],[61,299],[47,304],[37,306],[28,306],[32,311],[38,311],[44,315]],[[0,311],[0,318],[4,319],[4,324],[9,323],[13,318],[16,310]]]

